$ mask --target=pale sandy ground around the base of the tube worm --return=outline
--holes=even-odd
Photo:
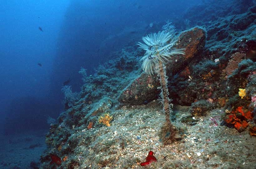
[[[87,158],[81,168],[145,168],[149,151],[156,163],[146,168],[242,169],[256,168],[256,137],[222,125],[225,110],[214,109],[194,122],[182,123],[191,116],[187,106],[175,106],[173,124],[183,130],[182,140],[164,145],[159,139],[164,113],[156,103],[122,107],[114,112],[110,127],[92,129],[98,138],[86,147]]]

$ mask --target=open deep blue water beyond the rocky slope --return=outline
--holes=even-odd
[[[200,2],[2,0],[2,131],[10,134],[48,128],[47,117],[57,118],[63,109],[63,82],[71,78],[74,91],[80,90],[81,66],[94,74],[100,63],[111,59],[111,52],[159,31],[159,25],[168,19],[180,22],[186,9]],[[150,23],[158,27],[150,28]]]

